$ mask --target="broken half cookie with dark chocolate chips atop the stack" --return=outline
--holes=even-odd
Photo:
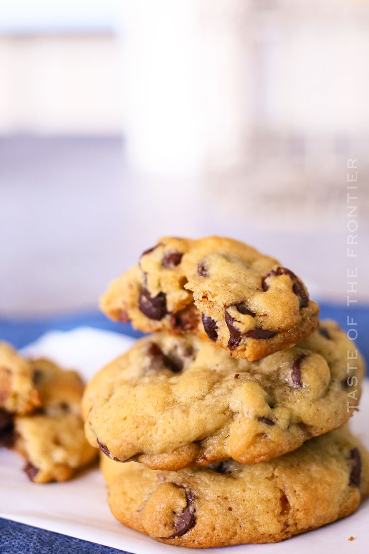
[[[117,321],[145,332],[191,332],[253,361],[318,327],[302,281],[254,248],[221,237],[164,237],[101,300]]]

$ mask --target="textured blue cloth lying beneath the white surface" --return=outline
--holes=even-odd
[[[333,304],[320,304],[321,319],[334,319],[347,330],[347,317],[357,322],[357,347],[366,358],[369,366],[369,306],[347,308]],[[22,348],[43,335],[46,331],[69,331],[79,326],[90,326],[96,329],[116,331],[132,337],[142,333],[134,331],[129,324],[116,324],[106,319],[100,312],[54,316],[39,319],[5,319],[0,318],[0,340],[6,340],[17,348]],[[66,537],[0,519],[0,554],[115,554],[115,548],[95,545],[91,542]]]

